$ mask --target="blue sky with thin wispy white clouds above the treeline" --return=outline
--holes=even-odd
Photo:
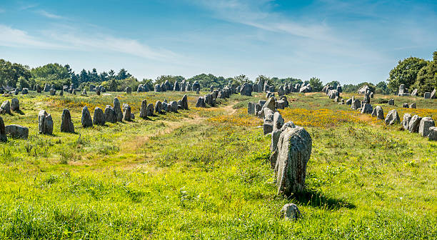
[[[437,1],[0,0],[0,59],[137,79],[315,76],[386,81],[437,51]]]

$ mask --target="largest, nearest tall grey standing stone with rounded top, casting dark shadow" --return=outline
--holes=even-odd
[[[311,136],[302,127],[283,130],[278,140],[275,166],[279,194],[290,196],[303,191],[311,146]]]

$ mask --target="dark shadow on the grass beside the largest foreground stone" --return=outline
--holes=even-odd
[[[298,204],[313,206],[326,209],[355,209],[355,205],[343,199],[334,199],[324,196],[320,191],[306,190],[298,194],[293,194],[290,199],[296,200]]]

